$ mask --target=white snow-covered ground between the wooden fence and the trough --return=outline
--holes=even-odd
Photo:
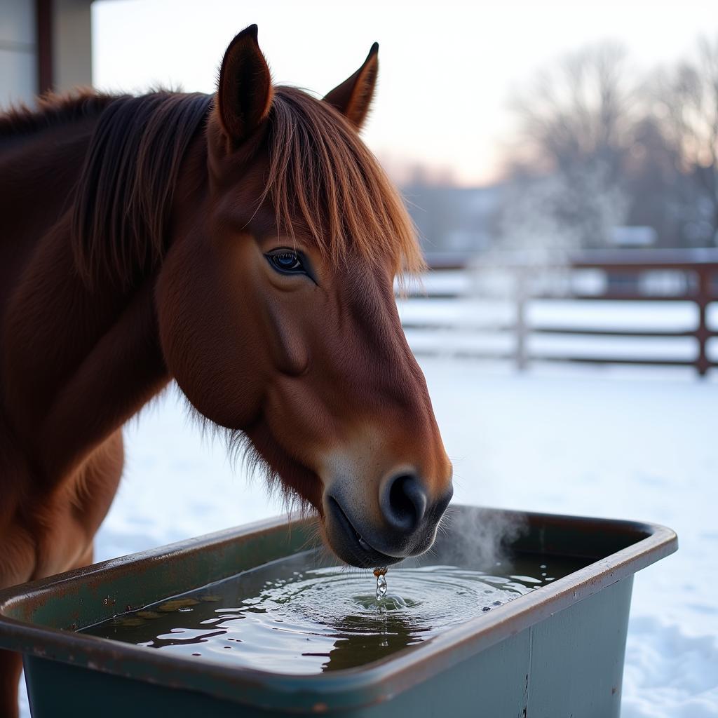
[[[718,717],[718,372],[421,364],[455,500],[642,519],[677,554],[635,579],[623,718]],[[168,391],[126,431],[127,469],[98,560],[279,513]],[[27,707],[26,707],[27,715]]]

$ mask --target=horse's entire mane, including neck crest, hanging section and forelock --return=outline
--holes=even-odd
[[[204,126],[213,95],[159,91],[133,97],[48,96],[37,111],[0,116],[0,136],[27,134],[99,115],[73,196],[75,266],[92,282],[131,284],[164,252],[182,157]],[[268,200],[279,231],[302,221],[333,263],[350,247],[395,271],[423,260],[404,203],[353,127],[329,104],[297,88],[275,88],[269,111]]]

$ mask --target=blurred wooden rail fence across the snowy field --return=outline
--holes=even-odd
[[[472,350],[459,348],[452,352],[463,357],[510,358],[520,369],[526,368],[531,361],[556,361],[591,364],[627,364],[627,365],[673,365],[693,366],[699,375],[704,376],[710,368],[718,366],[718,361],[709,356],[709,340],[718,337],[718,331],[709,326],[709,305],[718,302],[718,250],[641,250],[641,251],[595,251],[572,256],[561,266],[553,264],[536,264],[521,261],[515,256],[502,261],[482,262],[480,257],[457,254],[429,254],[429,268],[432,270],[429,279],[453,276],[454,278],[472,277],[474,286],[481,284],[482,274],[488,271],[500,271],[508,277],[510,292],[503,299],[513,307],[513,320],[488,322],[467,325],[465,322],[452,322],[444,317],[405,318],[405,330],[436,332],[460,328],[470,332],[492,332],[512,337],[512,349],[504,350]],[[562,274],[575,278],[586,271],[598,272],[602,276],[602,286],[597,291],[587,292],[584,289],[572,291],[546,291],[545,286],[536,289],[536,284],[546,284],[546,277],[560,269]],[[673,286],[669,291],[665,288],[656,291],[646,285],[643,279],[658,276],[665,279],[669,275]],[[540,281],[539,281],[540,280]],[[569,282],[571,284],[571,282]],[[659,283],[660,284],[660,283]],[[665,284],[665,282],[664,282]],[[439,282],[428,281],[424,289],[409,292],[406,302],[413,299],[478,299],[488,298],[475,289],[454,288]],[[495,298],[495,297],[494,297]],[[697,307],[697,320],[689,328],[670,329],[663,327],[632,327],[620,326],[591,327],[582,320],[572,322],[531,323],[527,319],[527,310],[532,302],[636,302],[650,306],[655,302],[690,302]],[[656,306],[653,304],[653,306]],[[660,304],[658,305],[660,306]],[[696,352],[692,358],[673,357],[640,357],[592,354],[585,350],[580,353],[565,352],[546,354],[529,348],[529,339],[536,336],[554,337],[634,337],[640,339],[666,339],[673,337],[692,337],[696,342]],[[437,353],[434,350],[419,349],[419,354]]]

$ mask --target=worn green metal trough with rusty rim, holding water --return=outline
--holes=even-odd
[[[620,714],[633,574],[677,548],[663,526],[454,506],[454,526],[523,521],[519,554],[592,561],[425,643],[360,668],[282,675],[75,633],[307,546],[274,519],[0,592],[0,648],[24,654],[34,718],[610,718]],[[458,538],[458,536],[454,536]]]

